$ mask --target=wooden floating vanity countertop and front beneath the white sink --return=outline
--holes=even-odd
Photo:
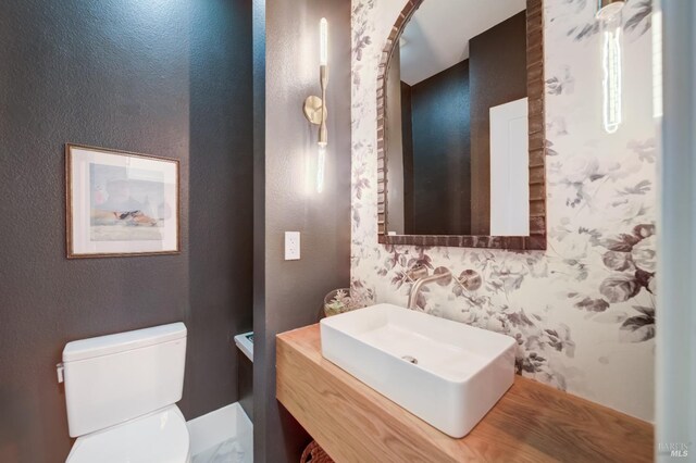
[[[319,325],[276,350],[277,399],[338,463],[652,461],[651,424],[531,379],[453,439],[325,360]]]

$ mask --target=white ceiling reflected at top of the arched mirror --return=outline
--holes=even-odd
[[[401,36],[401,80],[414,85],[469,58],[469,40],[526,0],[425,0]]]

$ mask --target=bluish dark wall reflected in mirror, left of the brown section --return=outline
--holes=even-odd
[[[469,60],[411,86],[410,97],[413,218],[406,221],[411,222],[406,234],[469,235]],[[405,166],[405,174],[408,171]],[[407,184],[405,182],[405,189]]]

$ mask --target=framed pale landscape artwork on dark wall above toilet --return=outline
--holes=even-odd
[[[178,160],[65,145],[67,258],[179,252]]]

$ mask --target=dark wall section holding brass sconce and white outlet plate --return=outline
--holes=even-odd
[[[254,348],[254,461],[278,463],[298,461],[309,437],[275,399],[275,335],[315,323],[324,296],[349,285],[350,2],[268,0],[265,14],[265,170],[257,178],[265,182],[265,250],[254,255],[265,288],[254,300],[254,329],[264,330]],[[314,175],[306,175],[306,163],[316,159],[316,127],[301,109],[320,92],[322,16],[330,33],[328,152],[318,193]],[[301,260],[283,260],[285,230],[301,233]]]

